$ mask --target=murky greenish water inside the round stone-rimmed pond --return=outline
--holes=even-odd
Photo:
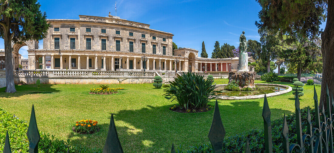
[[[218,87],[217,90],[223,90],[224,87]],[[223,96],[253,96],[253,95],[261,95],[261,94],[268,94],[273,92],[279,92],[282,90],[286,90],[282,87],[276,87],[276,86],[258,86],[258,89],[255,89],[254,91],[228,91],[223,90],[221,93]]]

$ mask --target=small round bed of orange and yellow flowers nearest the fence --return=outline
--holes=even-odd
[[[95,120],[81,120],[76,121],[75,126],[72,127],[72,130],[80,134],[92,134],[100,131],[100,128],[97,126],[98,121]]]

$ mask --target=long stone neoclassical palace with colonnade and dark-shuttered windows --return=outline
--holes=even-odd
[[[190,48],[172,49],[173,34],[149,24],[108,17],[79,15],[79,19],[48,19],[51,27],[43,39],[12,44],[18,66],[18,50],[28,46],[28,70],[68,69],[102,71],[236,71],[238,58],[198,57]],[[0,55],[1,56],[1,55]],[[42,61],[40,63],[39,61]],[[254,62],[252,57],[250,62]]]

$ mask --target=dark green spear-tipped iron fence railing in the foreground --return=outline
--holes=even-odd
[[[296,94],[298,95],[298,94]],[[321,109],[321,120],[320,120],[320,110],[318,104],[318,96],[314,87],[314,106],[315,106],[315,122],[316,127],[312,128],[311,124],[311,115],[310,109],[307,111],[307,132],[302,135],[302,120],[301,120],[301,111],[300,111],[300,102],[298,96],[295,98],[295,108],[296,108],[296,130],[297,130],[297,143],[289,145],[289,128],[287,125],[287,120],[284,114],[283,117],[283,144],[282,149],[284,153],[298,152],[304,153],[305,147],[308,147],[308,152],[310,153],[333,153],[333,120],[334,113],[331,113],[331,110],[334,110],[334,99],[330,100],[329,91],[327,87],[327,112],[325,112],[324,107]],[[326,115],[327,114],[327,115]],[[262,117],[264,121],[264,137],[265,137],[265,152],[273,152],[273,142],[272,142],[272,131],[271,131],[271,111],[268,105],[267,96],[264,98],[264,105],[262,110]],[[208,138],[212,145],[213,153],[221,153],[223,151],[222,144],[225,137],[225,129],[221,121],[221,116],[219,113],[218,102],[216,100],[213,119],[208,134]],[[27,136],[29,140],[29,153],[38,153],[38,142],[40,135],[37,128],[35,109],[32,105],[31,117],[29,122],[29,127],[27,131]],[[67,150],[67,152],[69,152]],[[245,153],[251,153],[249,147],[248,139],[245,142]],[[3,153],[11,153],[8,131],[6,133],[5,145],[3,148]],[[106,139],[105,146],[103,148],[103,153],[123,153],[121,143],[118,139],[118,134],[116,131],[116,126],[114,122],[113,114],[110,118],[109,131]],[[171,153],[175,153],[174,144],[172,144]]]

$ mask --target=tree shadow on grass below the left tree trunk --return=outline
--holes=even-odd
[[[11,98],[11,97],[20,97],[27,94],[52,94],[58,93],[60,90],[52,88],[53,84],[41,84],[39,91],[37,93],[36,84],[27,84],[27,85],[15,85],[16,92],[6,93],[6,87],[0,88],[0,98]]]

